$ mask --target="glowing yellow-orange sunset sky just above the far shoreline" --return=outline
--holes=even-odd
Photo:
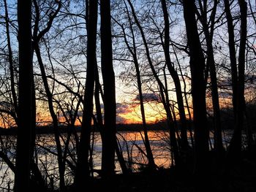
[[[120,84],[118,84],[120,85]],[[170,84],[170,88],[171,88]],[[125,87],[125,85],[116,86],[116,123],[142,123],[141,118],[141,112],[140,112],[140,101],[139,101],[139,95],[138,91],[136,91],[136,88],[134,88],[133,91],[130,90],[131,88]],[[146,92],[146,91],[145,91]],[[191,96],[187,95],[189,99],[189,105],[190,105],[190,112],[192,115],[192,109],[191,109]],[[231,98],[229,95],[225,94],[219,95],[219,101],[221,107],[228,107],[229,104],[231,104]],[[172,104],[172,101],[176,101],[176,96],[174,92],[170,92],[170,104]],[[163,105],[159,99],[158,93],[143,93],[143,101],[144,101],[144,108],[146,112],[146,123],[156,123],[159,120],[165,120],[166,119],[166,113],[163,108]],[[211,109],[211,96],[208,95],[208,99],[206,100],[208,104],[208,109]],[[185,104],[185,102],[184,102]],[[102,112],[103,107],[102,105]],[[37,109],[37,122],[39,122],[39,125],[47,125],[52,120],[50,118],[50,115],[48,113],[47,104],[38,104]],[[45,110],[44,110],[45,108]],[[174,107],[176,112],[176,119],[178,119],[178,110],[177,106]],[[187,118],[189,118],[187,107],[185,107],[185,112],[187,115]],[[94,114],[95,114],[94,110]],[[61,113],[60,113],[61,114]],[[80,110],[78,112],[78,115],[80,118],[82,117],[82,111]],[[64,122],[63,115],[59,115],[59,121]],[[76,125],[80,125],[79,120],[76,121]]]

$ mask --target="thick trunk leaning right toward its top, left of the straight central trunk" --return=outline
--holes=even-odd
[[[83,100],[83,123],[80,133],[80,145],[78,150],[78,164],[75,173],[75,190],[84,188],[84,182],[89,180],[89,149],[91,139],[91,117],[93,114],[94,96],[94,70],[96,59],[96,39],[97,39],[97,1],[89,1],[89,25],[87,28],[87,70],[86,70],[86,90]]]

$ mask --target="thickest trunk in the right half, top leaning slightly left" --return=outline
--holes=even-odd
[[[208,169],[209,131],[206,118],[206,85],[204,81],[205,59],[200,45],[195,18],[195,1],[184,0],[184,20],[189,46],[192,76],[193,122],[195,130],[195,174],[203,175]]]

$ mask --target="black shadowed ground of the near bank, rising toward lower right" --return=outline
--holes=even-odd
[[[224,171],[225,170],[225,171]],[[80,191],[120,191],[120,192],[256,192],[255,161],[243,158],[229,170],[225,166],[217,169],[209,166],[203,177],[195,177],[191,170],[185,168],[159,169],[151,172],[144,170],[128,176],[116,175],[107,182],[109,189],[101,180],[94,180],[90,189]],[[72,188],[69,191],[73,191]]]

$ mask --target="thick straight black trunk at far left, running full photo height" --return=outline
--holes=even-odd
[[[33,59],[31,42],[31,1],[18,1],[18,140],[16,153],[15,191],[30,188],[31,133],[35,117],[33,105]]]

